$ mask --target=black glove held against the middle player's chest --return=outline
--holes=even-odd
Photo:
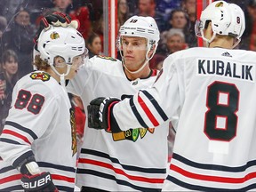
[[[99,97],[90,102],[88,109],[88,126],[94,129],[104,129],[107,132],[120,132],[116,120],[111,121],[113,106],[119,102],[117,98]]]

